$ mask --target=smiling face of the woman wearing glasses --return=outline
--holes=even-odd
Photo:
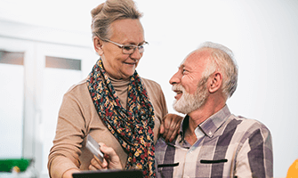
[[[140,45],[144,42],[144,30],[140,20],[116,20],[111,26],[110,41],[117,44]],[[122,48],[107,41],[101,41],[101,59],[103,67],[110,77],[127,79],[131,77],[138,66],[143,53],[136,48],[132,54],[125,54]]]

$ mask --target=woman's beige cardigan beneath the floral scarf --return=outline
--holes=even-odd
[[[167,113],[165,96],[156,82],[145,78],[141,79],[155,111],[154,142],[157,142],[160,121]],[[112,83],[117,95],[119,94],[121,103],[123,103],[127,99],[127,86],[117,85],[117,81],[112,81]],[[102,123],[90,97],[86,80],[84,80],[72,86],[64,94],[56,136],[48,160],[51,177],[61,177],[71,168],[88,169],[93,155],[85,148],[87,134],[91,134],[97,142],[104,142],[112,147],[117,152],[122,165],[125,166],[127,154]]]

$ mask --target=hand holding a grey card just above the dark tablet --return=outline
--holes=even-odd
[[[115,150],[108,147],[102,142],[100,142],[99,144],[101,145],[101,152],[104,155],[103,162],[101,162],[101,160],[94,156],[90,162],[89,170],[123,169],[120,158],[117,156]]]

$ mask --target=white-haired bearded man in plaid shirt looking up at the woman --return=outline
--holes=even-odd
[[[262,123],[230,113],[238,68],[233,54],[207,42],[170,79],[173,108],[187,114],[173,142],[156,145],[157,177],[272,177],[272,145]]]

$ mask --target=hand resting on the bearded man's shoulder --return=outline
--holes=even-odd
[[[172,142],[176,138],[182,119],[183,117],[176,114],[165,115],[159,129],[159,134],[164,137],[165,142]]]

